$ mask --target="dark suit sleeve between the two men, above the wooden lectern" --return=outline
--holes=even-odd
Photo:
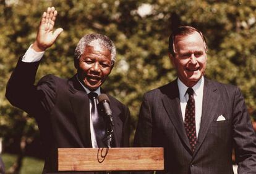
[[[147,95],[143,96],[142,105],[140,106],[139,121],[134,137],[135,147],[152,146],[152,118],[151,107]]]

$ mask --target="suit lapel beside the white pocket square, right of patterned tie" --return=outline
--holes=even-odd
[[[213,121],[213,117],[216,114],[216,110],[218,109],[219,100],[220,95],[217,92],[215,85],[205,78],[205,84],[203,88],[201,124],[194,154],[196,154],[196,152],[202,145],[203,140],[205,140],[205,136],[207,135],[210,124]]]

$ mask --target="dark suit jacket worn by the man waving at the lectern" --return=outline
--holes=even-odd
[[[35,117],[45,152],[44,173],[57,171],[58,148],[92,148],[87,93],[76,76],[61,79],[47,75],[37,85],[39,62],[18,61],[7,84],[10,103]],[[113,147],[129,146],[129,109],[108,96],[113,112]]]

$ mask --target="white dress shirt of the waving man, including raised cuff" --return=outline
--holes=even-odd
[[[23,62],[27,62],[27,63],[36,62],[36,61],[40,61],[41,58],[43,57],[45,52],[36,52],[31,47],[32,47],[32,45],[30,45],[30,47],[28,48],[25,55],[23,55],[23,57],[22,57]],[[77,77],[77,80],[79,81],[78,77]],[[83,89],[85,89],[87,94],[91,92],[80,81],[79,81],[79,83],[82,85]],[[96,92],[98,95],[100,95],[100,87],[98,89],[96,89],[94,92]],[[93,123],[92,123],[92,115],[91,115],[92,101],[91,100],[89,100],[89,101],[90,101],[90,131],[91,131],[92,147],[98,148],[95,131],[93,129]]]

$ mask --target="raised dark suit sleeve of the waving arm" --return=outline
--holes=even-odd
[[[51,76],[43,77],[34,85],[40,61],[25,63],[19,59],[6,87],[9,102],[33,116],[49,111],[55,98],[55,85]]]

